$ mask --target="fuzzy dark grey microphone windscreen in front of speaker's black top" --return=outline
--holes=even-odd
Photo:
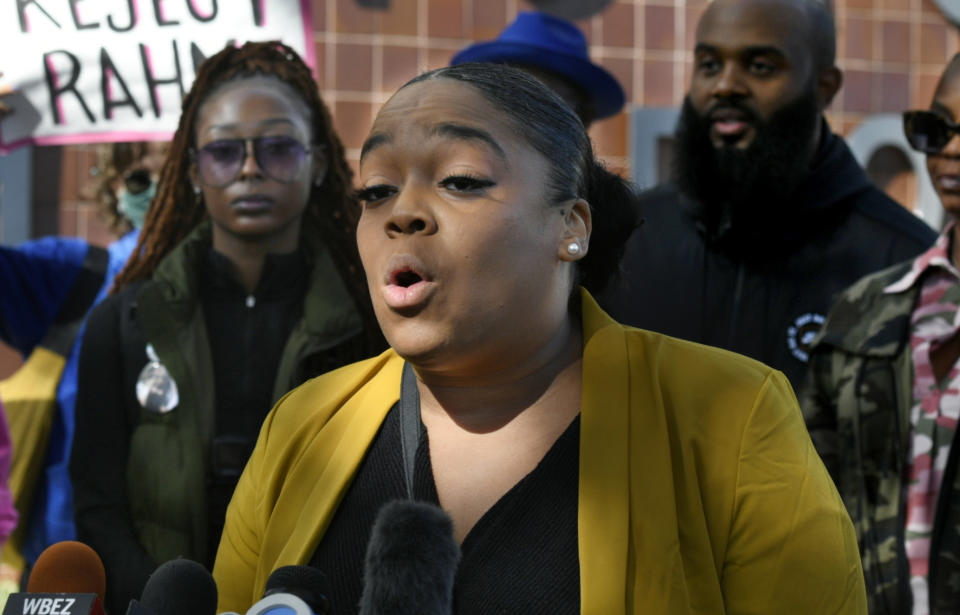
[[[360,615],[450,615],[459,561],[447,513],[423,502],[388,503],[370,533]]]

